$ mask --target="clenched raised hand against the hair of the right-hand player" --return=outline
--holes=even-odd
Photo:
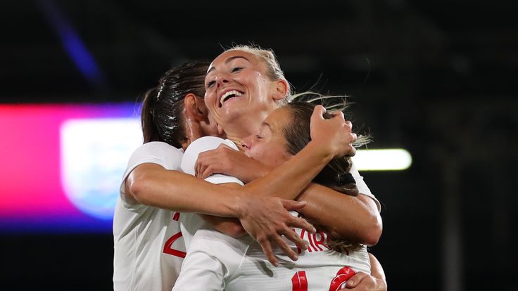
[[[313,110],[310,122],[311,141],[320,144],[333,157],[355,155],[353,141],[357,136],[352,132],[353,124],[346,121],[341,111],[335,112],[329,119],[324,118],[325,112],[322,105],[315,106]]]

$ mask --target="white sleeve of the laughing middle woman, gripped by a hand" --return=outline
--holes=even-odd
[[[196,141],[192,142],[185,150],[181,165],[182,171],[194,176],[194,167],[196,165],[196,160],[198,160],[198,155],[207,150],[215,150],[221,144],[228,145],[234,150],[238,150],[237,146],[228,139],[222,139],[215,136],[204,136],[196,139]],[[224,174],[213,174],[205,180],[214,184],[239,183],[241,186],[244,185],[244,183],[236,177]]]

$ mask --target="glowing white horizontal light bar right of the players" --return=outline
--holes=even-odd
[[[358,150],[353,162],[358,171],[398,171],[410,167],[412,155],[403,148]]]

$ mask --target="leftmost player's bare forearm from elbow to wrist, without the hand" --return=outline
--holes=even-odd
[[[236,216],[243,193],[208,183],[189,174],[141,164],[127,177],[126,193],[144,205],[177,212]]]

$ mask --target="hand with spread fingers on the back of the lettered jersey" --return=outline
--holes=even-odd
[[[279,261],[273,253],[272,243],[279,246],[293,261],[298,259],[298,255],[289,247],[282,235],[301,249],[308,249],[307,243],[292,228],[303,228],[305,231],[315,233],[315,227],[305,219],[289,213],[289,210],[301,209],[305,204],[306,202],[274,197],[247,196],[243,199],[239,221],[246,232],[258,241],[268,261],[274,266],[278,266]]]

